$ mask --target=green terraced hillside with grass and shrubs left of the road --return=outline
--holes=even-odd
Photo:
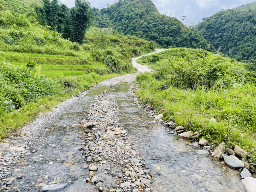
[[[131,57],[154,51],[154,42],[105,35],[96,27],[81,36],[84,44],[74,43],[41,25],[29,1],[17,3],[27,15],[14,12],[13,2],[0,0],[0,138],[59,101],[134,72]]]

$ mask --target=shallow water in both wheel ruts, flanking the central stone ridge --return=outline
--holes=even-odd
[[[146,168],[155,175],[152,179],[152,191],[160,192],[240,192],[237,186],[239,171],[221,166],[211,157],[200,156],[191,147],[188,140],[168,134],[165,127],[151,123],[152,118],[139,109],[129,96],[129,84],[116,87],[100,86],[91,90],[87,96],[50,125],[47,133],[31,145],[35,153],[21,159],[12,177],[19,191],[40,191],[39,183],[49,183],[53,178],[61,177],[69,185],[65,192],[93,192],[94,186],[86,183],[88,169],[81,168],[84,155],[81,148],[84,130],[72,127],[80,123],[94,97],[104,90],[113,92],[119,104],[119,123],[129,131],[128,142],[133,143],[137,152],[146,162]],[[80,151],[81,150],[81,151]],[[102,165],[97,174],[104,182],[114,183],[113,178],[104,175]],[[120,168],[116,168],[118,171]],[[120,170],[119,170],[120,171]],[[41,182],[38,180],[41,179]]]

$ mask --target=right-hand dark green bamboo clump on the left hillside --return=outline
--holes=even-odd
[[[70,9],[73,42],[84,43],[86,30],[93,24],[94,16],[90,2],[75,0],[75,7]]]

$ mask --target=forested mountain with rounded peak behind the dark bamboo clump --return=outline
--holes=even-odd
[[[111,27],[125,35],[154,40],[158,47],[201,47],[215,50],[177,18],[160,14],[151,0],[118,0],[108,8],[93,8],[93,11],[96,27]]]

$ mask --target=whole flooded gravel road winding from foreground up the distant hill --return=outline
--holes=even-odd
[[[1,143],[0,191],[242,191],[239,171],[153,122],[133,93],[137,74],[102,81]]]

